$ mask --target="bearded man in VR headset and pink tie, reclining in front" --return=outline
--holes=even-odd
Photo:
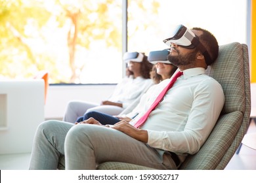
[[[205,75],[219,46],[209,31],[183,25],[164,42],[171,47],[169,61],[183,74],[144,124],[138,125],[169,79],[158,84],[144,110],[129,123],[106,127],[92,118],[79,125],[43,122],[35,134],[30,169],[96,169],[105,161],[179,169],[186,155],[196,154],[224,105],[221,85]]]

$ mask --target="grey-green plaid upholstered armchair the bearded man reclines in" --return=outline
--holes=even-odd
[[[249,56],[246,44],[220,46],[217,61],[207,74],[223,86],[225,103],[221,116],[197,154],[190,155],[179,169],[224,169],[235,154],[249,124],[251,93]],[[105,162],[97,169],[150,169],[122,162]]]

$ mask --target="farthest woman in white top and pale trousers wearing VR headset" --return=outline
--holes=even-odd
[[[117,115],[128,107],[135,99],[140,98],[153,82],[150,79],[152,63],[148,57],[139,52],[126,52],[123,61],[127,63],[127,76],[119,82],[114,93],[101,104],[85,101],[70,101],[66,108],[63,121],[75,123],[85,112],[98,111]]]

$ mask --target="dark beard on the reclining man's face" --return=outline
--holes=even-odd
[[[178,56],[171,56],[171,54],[168,55],[168,60],[173,63],[173,65],[179,67],[179,66],[185,66],[185,65],[194,65],[194,62],[196,61],[196,55],[198,53],[198,50],[194,50],[193,52],[190,52],[184,56],[182,56],[179,52],[179,50],[176,50],[178,53]]]

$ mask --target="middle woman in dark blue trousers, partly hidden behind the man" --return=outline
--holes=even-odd
[[[150,76],[155,84],[159,84],[162,80],[171,78],[171,76],[177,70],[177,67],[167,60],[168,55],[169,50],[153,51],[148,55],[148,61],[154,64]],[[89,120],[89,118],[94,118],[102,125],[114,125],[121,120],[130,122],[133,118],[135,118],[135,116],[137,116],[137,114],[139,114],[140,110],[142,110],[146,101],[148,101],[148,99],[151,97],[151,92],[154,91],[154,88],[156,88],[156,85],[151,86],[148,91],[142,95],[138,105],[130,105],[117,116],[112,116],[98,111],[90,111],[77,118],[76,123]],[[130,110],[132,111],[129,112]]]

